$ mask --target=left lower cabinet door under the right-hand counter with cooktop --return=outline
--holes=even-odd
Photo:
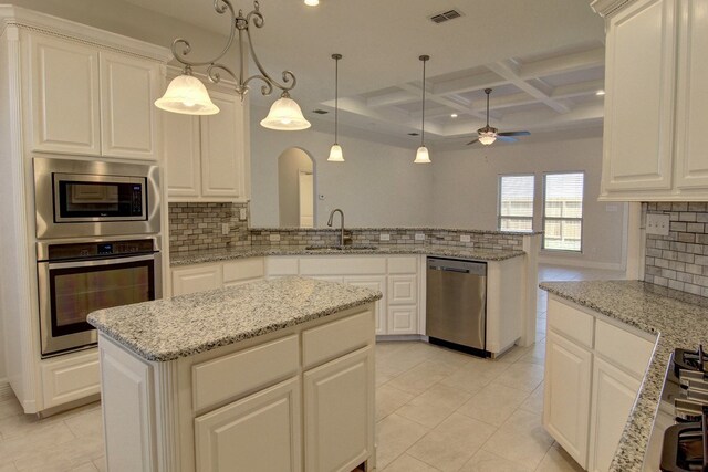
[[[553,331],[549,332],[545,343],[543,426],[584,469],[592,355]]]

